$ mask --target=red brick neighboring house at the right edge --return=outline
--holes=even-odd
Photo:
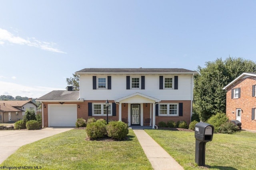
[[[242,129],[256,130],[256,73],[243,73],[223,88],[226,90],[226,115],[239,120]]]

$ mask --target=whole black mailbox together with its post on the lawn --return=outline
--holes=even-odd
[[[195,161],[199,166],[205,166],[205,145],[212,141],[214,126],[199,122],[195,125],[196,153]]]

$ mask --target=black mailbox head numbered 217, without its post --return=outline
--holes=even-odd
[[[195,138],[198,141],[202,141],[202,142],[212,141],[213,132],[214,132],[214,126],[204,122],[196,123]]]

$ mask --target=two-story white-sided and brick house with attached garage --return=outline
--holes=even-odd
[[[128,125],[149,125],[160,121],[190,123],[193,76],[182,68],[85,68],[77,71],[80,91],[52,91],[42,102],[44,126],[74,126],[76,119],[127,120]]]

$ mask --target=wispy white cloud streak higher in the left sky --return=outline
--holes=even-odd
[[[13,35],[6,29],[0,28],[0,45],[4,45],[6,42],[19,44],[19,45],[28,45],[28,46],[40,48],[42,50],[56,52],[56,53],[65,53],[53,47],[54,45],[56,45],[56,43],[52,43],[52,42],[49,43],[45,41],[41,42],[36,40],[36,38],[34,37],[24,39],[22,37]]]

